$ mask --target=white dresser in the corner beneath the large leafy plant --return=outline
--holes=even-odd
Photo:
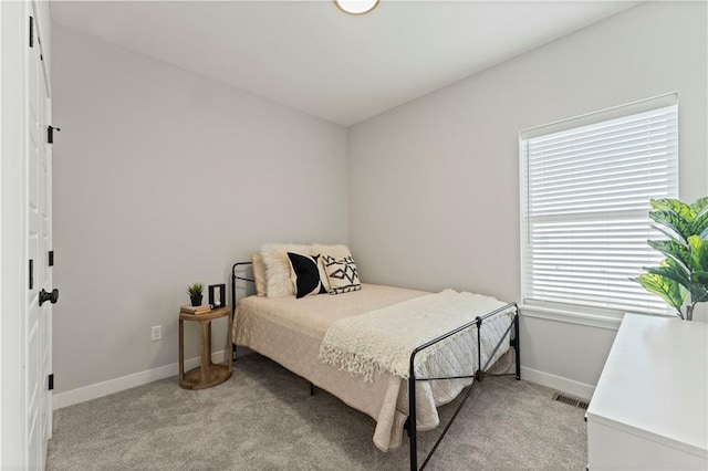
[[[708,469],[708,324],[627,314],[587,408],[596,470]]]

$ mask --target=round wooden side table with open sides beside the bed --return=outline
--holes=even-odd
[[[228,345],[231,345],[231,307],[223,306],[206,314],[179,313],[179,386],[185,389],[204,389],[220,385],[231,377],[231,350],[225,349],[226,362],[211,363],[211,321],[229,316]],[[185,373],[185,321],[201,324],[201,365]]]

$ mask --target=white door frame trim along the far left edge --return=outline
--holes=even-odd
[[[24,468],[25,57],[29,2],[0,2],[0,468]],[[18,91],[20,93],[18,93]]]

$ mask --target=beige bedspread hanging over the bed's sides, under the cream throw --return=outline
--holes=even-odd
[[[375,373],[372,381],[325,365],[320,345],[330,325],[341,318],[430,294],[424,291],[363,284],[361,291],[339,295],[269,299],[248,296],[236,306],[233,342],[278,362],[376,420],[373,441],[383,451],[400,446],[408,416],[408,384],[392,374]],[[503,303],[500,303],[503,304]],[[500,313],[482,325],[482,365],[504,335],[512,314]],[[473,316],[470,316],[470,321]],[[509,349],[494,354],[493,364]],[[467,331],[420,365],[423,375],[472,374],[477,369],[477,332]],[[473,353],[473,354],[472,354]],[[417,429],[438,426],[436,406],[455,399],[472,379],[420,381],[416,388]]]

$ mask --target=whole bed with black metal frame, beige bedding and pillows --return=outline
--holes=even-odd
[[[283,254],[295,253],[292,251],[298,250],[304,252],[305,257],[314,258],[317,263],[316,258],[327,250],[335,255],[348,252],[348,249],[341,245],[336,247],[339,250],[331,245],[274,247],[278,249],[274,258],[268,258],[272,255],[268,251],[271,245],[264,245],[264,250],[260,252],[271,262],[266,270],[270,276],[267,275],[266,279],[268,282],[273,281],[273,292],[279,286],[289,284],[294,286],[294,291],[301,287],[294,275],[296,264],[288,266],[283,262]],[[330,260],[346,258],[333,257]],[[348,260],[353,264],[351,255]],[[262,281],[263,268],[258,268],[258,258],[253,258],[251,262],[238,262],[233,265],[233,300],[237,299],[238,280],[257,284],[259,278]],[[243,275],[247,265],[252,265],[253,279]],[[278,279],[278,273],[272,270],[269,271],[272,266],[284,271],[284,275],[290,270],[292,273],[289,282]],[[322,263],[312,270],[319,270],[322,278],[326,274]],[[298,274],[302,275],[302,272]],[[361,282],[356,289],[352,289],[351,281],[346,281],[350,283],[348,289],[337,295],[295,297],[280,292],[281,295],[267,296],[258,295],[257,289],[257,295],[246,296],[233,303],[233,348],[240,345],[258,352],[305,378],[311,387],[322,388],[371,416],[376,421],[373,441],[382,451],[399,447],[403,430],[406,429],[410,441],[410,469],[418,469],[417,431],[439,426],[437,406],[450,402],[464,388],[475,380],[483,379],[485,371],[494,364],[508,366],[516,362],[514,374],[519,378],[518,308],[514,303],[507,304],[489,296],[451,290],[428,293]],[[313,293],[316,291],[319,294],[330,292],[332,286],[308,285],[304,290],[312,290]],[[452,300],[457,307],[451,306]],[[450,312],[457,310],[460,315],[425,314],[448,305]],[[413,321],[412,313],[418,311],[423,317]],[[426,326],[426,322],[433,324]],[[386,327],[386,324],[391,326]],[[415,335],[404,332],[416,331],[416,327],[419,328]],[[365,331],[366,328],[369,331]],[[386,328],[391,332],[385,332]],[[391,338],[391,334],[395,333],[393,337],[402,337],[407,344],[398,338],[395,342],[378,342],[373,338],[379,333],[389,336],[381,338]],[[398,345],[398,342],[404,343]],[[392,344],[394,352],[374,352],[369,355],[372,347],[367,347],[367,343]],[[510,349],[510,346],[514,348]],[[367,355],[372,357],[369,363],[366,362]],[[391,355],[391,360],[376,362],[375,358],[381,355]],[[470,390],[471,388],[459,408],[464,406]],[[416,423],[416,427],[410,423]],[[438,443],[446,431],[447,428]],[[427,464],[438,443],[423,467]]]

